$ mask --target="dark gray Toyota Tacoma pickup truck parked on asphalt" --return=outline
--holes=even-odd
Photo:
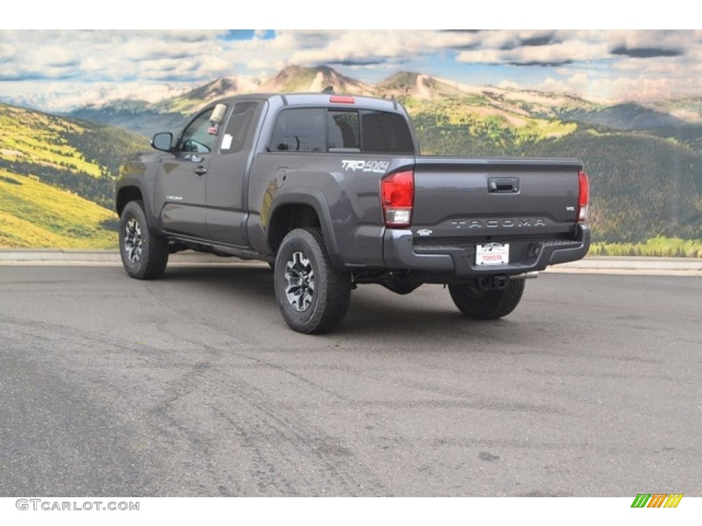
[[[590,246],[581,161],[421,156],[394,100],[231,97],[152,146],[117,179],[127,274],[187,249],[268,262],[298,332],[335,328],[361,283],[448,285],[466,316],[500,318],[524,278]]]

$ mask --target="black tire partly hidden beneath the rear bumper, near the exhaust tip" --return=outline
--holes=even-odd
[[[495,320],[517,308],[524,294],[524,280],[511,279],[502,290],[481,290],[477,285],[449,285],[458,310],[476,320]]]

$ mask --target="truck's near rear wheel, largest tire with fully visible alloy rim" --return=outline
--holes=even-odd
[[[331,265],[318,229],[295,229],[285,236],[273,276],[275,299],[293,330],[329,332],[346,316],[351,276]]]

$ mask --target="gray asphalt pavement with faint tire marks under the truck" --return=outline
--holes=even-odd
[[[702,496],[696,275],[549,271],[482,323],[362,285],[312,337],[265,265],[106,256],[0,268],[2,496]]]

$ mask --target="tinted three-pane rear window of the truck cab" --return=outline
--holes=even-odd
[[[411,154],[414,146],[409,127],[400,114],[293,108],[278,114],[268,149]]]

